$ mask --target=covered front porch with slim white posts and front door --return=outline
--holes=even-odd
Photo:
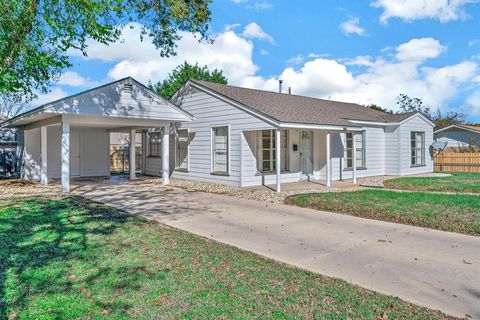
[[[345,188],[365,168],[365,133],[359,128],[289,128],[243,131],[241,186],[277,192]],[[333,185],[335,184],[335,186]]]

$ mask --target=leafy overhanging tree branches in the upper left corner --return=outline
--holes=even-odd
[[[45,93],[68,52],[87,56],[87,40],[118,41],[122,28],[138,22],[160,56],[175,54],[178,31],[207,40],[211,0],[0,0],[0,95],[31,100]]]

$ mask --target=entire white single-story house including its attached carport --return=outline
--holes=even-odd
[[[166,101],[132,78],[43,105],[18,128],[21,176],[108,176],[109,133],[141,135],[141,171],[236,186],[432,172],[434,124],[351,103],[188,81]],[[45,156],[43,156],[45,155]],[[134,162],[134,161],[133,161]],[[130,168],[135,177],[135,166]]]

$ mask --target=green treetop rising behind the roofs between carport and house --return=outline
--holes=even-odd
[[[228,82],[221,70],[210,71],[207,66],[200,67],[198,63],[192,65],[185,61],[173,69],[167,79],[156,84],[150,83],[149,87],[162,97],[170,99],[187,80],[205,80],[221,84]]]

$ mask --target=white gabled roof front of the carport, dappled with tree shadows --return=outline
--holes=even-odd
[[[101,117],[191,121],[193,116],[127,77],[32,109],[2,124],[21,126],[48,115],[74,114]]]

